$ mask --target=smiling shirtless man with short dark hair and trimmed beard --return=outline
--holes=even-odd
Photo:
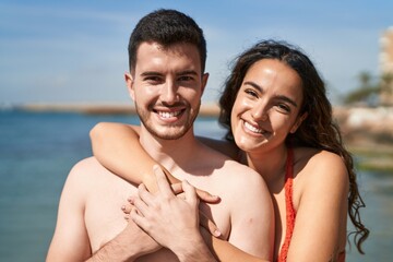
[[[144,16],[129,44],[127,86],[141,119],[144,150],[174,176],[221,196],[205,214],[223,237],[257,257],[271,258],[272,206],[259,174],[204,146],[193,134],[201,96],[206,47],[195,22],[174,10]],[[71,170],[59,204],[47,261],[212,261],[202,238],[188,248],[159,247],[119,206],[136,193],[95,158]],[[262,245],[263,243],[263,245]]]

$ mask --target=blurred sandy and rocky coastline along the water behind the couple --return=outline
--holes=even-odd
[[[87,115],[134,115],[133,104],[24,104],[0,107],[1,110],[27,112],[79,112]],[[200,116],[218,117],[216,103],[202,103]],[[346,147],[359,157],[360,169],[393,172],[393,108],[334,107]]]

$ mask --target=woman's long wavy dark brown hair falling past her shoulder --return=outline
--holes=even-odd
[[[311,60],[300,51],[284,41],[263,40],[246,50],[235,61],[219,99],[219,123],[228,131],[226,139],[234,141],[230,130],[230,112],[237,93],[249,68],[261,59],[277,59],[294,69],[302,80],[303,103],[300,115],[308,112],[308,117],[296,133],[287,136],[287,143],[294,146],[309,146],[333,152],[340,155],[346,166],[349,179],[348,215],[355,226],[354,242],[360,253],[362,242],[369,236],[369,229],[362,224],[359,210],[365,203],[359,194],[354,169],[354,160],[345,148],[338,126],[333,120],[332,106],[326,97],[325,85]]]

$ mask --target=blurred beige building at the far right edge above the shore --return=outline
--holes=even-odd
[[[393,26],[380,38],[381,104],[393,106]]]

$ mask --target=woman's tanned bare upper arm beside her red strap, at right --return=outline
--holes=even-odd
[[[346,245],[348,175],[340,156],[320,152],[298,174],[301,192],[287,261],[336,261]],[[297,203],[296,203],[297,202]]]

